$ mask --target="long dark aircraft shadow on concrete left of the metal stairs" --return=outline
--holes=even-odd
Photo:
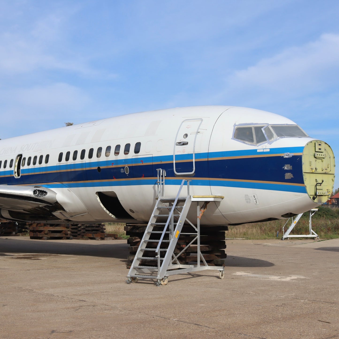
[[[77,243],[77,240],[69,242],[54,242],[49,240],[24,241],[16,239],[0,239],[0,256],[3,253],[24,253],[24,254],[65,254],[65,255],[83,255],[91,257],[117,258],[127,261],[129,255],[126,241],[121,243],[109,243],[109,240],[99,241],[87,240],[88,243]]]

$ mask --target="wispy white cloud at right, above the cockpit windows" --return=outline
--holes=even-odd
[[[338,83],[338,70],[339,35],[323,34],[314,42],[287,48],[272,58],[234,72],[226,79],[225,92],[279,93],[284,98],[297,98]]]

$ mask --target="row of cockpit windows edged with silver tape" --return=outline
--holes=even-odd
[[[308,135],[298,125],[235,125],[233,138],[248,144],[258,145],[278,138],[301,138]]]

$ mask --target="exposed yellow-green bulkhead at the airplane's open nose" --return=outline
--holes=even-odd
[[[302,171],[306,191],[317,204],[327,201],[334,185],[334,154],[324,141],[308,142],[302,153]]]

